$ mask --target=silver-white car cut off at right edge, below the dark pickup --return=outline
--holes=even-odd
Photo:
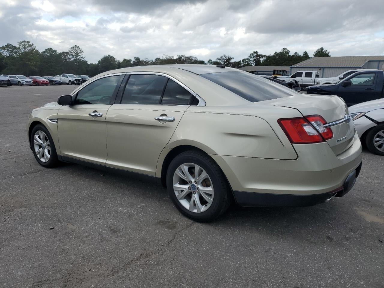
[[[384,99],[349,107],[361,142],[369,151],[384,156]]]

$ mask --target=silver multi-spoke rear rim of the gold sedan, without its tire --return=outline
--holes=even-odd
[[[185,209],[201,213],[209,209],[214,199],[214,187],[205,170],[194,163],[177,167],[173,176],[177,200]]]

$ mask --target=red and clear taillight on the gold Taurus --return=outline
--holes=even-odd
[[[333,137],[332,130],[324,127],[326,122],[319,115],[279,119],[278,123],[294,144],[319,143]]]

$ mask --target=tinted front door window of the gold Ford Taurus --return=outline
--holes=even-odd
[[[76,96],[75,105],[109,104],[121,75],[109,76],[93,81],[81,89]]]

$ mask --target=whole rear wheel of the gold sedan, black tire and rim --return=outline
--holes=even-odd
[[[227,179],[207,154],[186,151],[176,156],[167,170],[167,189],[176,208],[197,222],[210,222],[232,203]]]

